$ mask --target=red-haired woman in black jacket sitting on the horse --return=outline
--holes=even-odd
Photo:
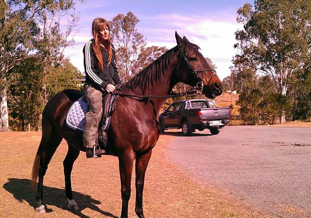
[[[115,51],[110,42],[108,22],[103,18],[96,18],[92,23],[92,34],[94,38],[83,48],[85,70],[83,94],[89,104],[83,133],[86,158],[105,153],[105,150],[98,149],[98,127],[103,115],[103,91],[115,91],[112,82],[121,84]]]

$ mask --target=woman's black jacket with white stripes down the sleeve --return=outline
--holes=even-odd
[[[112,57],[111,62],[108,64],[108,52],[102,48],[103,58],[104,58],[104,70],[102,71],[98,67],[98,60],[93,50],[93,41],[91,39],[83,47],[83,56],[84,56],[84,70],[85,70],[85,82],[84,84],[92,84],[95,87],[106,88],[108,84],[121,84],[120,75],[118,68],[116,66],[116,55],[113,46],[112,48]]]

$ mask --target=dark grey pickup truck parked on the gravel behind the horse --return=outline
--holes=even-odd
[[[218,107],[213,101],[206,99],[180,100],[173,102],[159,116],[161,133],[164,129],[180,129],[182,134],[190,136],[196,129],[209,129],[217,135],[231,120],[230,107]]]

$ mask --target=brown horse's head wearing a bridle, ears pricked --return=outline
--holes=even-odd
[[[190,43],[185,36],[181,38],[177,32],[175,37],[181,55],[177,72],[181,82],[198,88],[202,88],[203,83],[203,94],[209,98],[221,95],[221,81],[199,51],[199,46]]]

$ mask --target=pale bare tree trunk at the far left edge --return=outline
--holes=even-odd
[[[0,90],[0,131],[9,131],[9,116],[7,112],[7,99],[6,99],[6,81],[3,79],[2,89]]]

